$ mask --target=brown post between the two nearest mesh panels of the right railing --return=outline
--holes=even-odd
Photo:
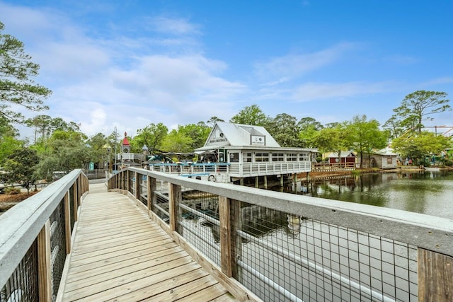
[[[233,255],[231,254],[231,219],[230,200],[219,196],[219,219],[220,219],[220,262],[222,272],[226,277],[233,277]]]

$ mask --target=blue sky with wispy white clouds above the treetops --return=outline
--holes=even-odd
[[[44,114],[89,136],[253,104],[384,124],[414,91],[453,98],[452,13],[453,1],[0,0],[4,33],[53,91]],[[453,126],[452,112],[433,117]]]

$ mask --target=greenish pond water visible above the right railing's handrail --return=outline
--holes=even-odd
[[[270,190],[281,188],[272,187]],[[295,187],[289,185],[283,190],[453,219],[452,171],[348,175],[298,182]]]

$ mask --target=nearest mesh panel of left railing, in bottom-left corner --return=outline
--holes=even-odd
[[[6,284],[0,289],[0,302],[38,301],[38,244],[30,246]]]

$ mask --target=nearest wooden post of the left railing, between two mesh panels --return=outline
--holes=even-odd
[[[52,272],[50,260],[50,220],[38,234],[38,291],[39,301],[52,301]]]

